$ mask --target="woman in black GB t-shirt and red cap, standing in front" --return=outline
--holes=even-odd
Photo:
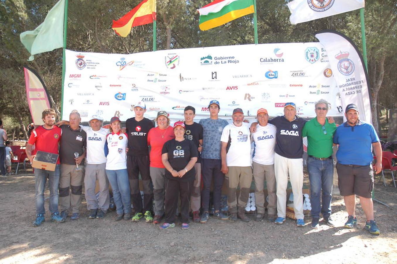
[[[178,197],[181,199],[182,229],[189,228],[190,196],[195,180],[194,165],[197,161],[197,147],[191,140],[185,140],[185,124],[174,124],[175,139],[167,141],[162,149],[162,161],[166,167],[165,214],[166,221],[160,229],[175,227],[175,213]]]

